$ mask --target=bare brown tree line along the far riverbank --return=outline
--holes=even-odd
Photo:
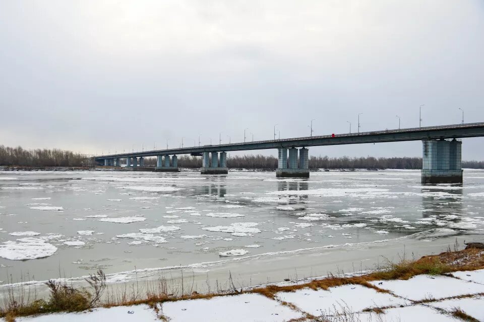
[[[155,167],[156,157],[145,158],[145,166]],[[33,149],[22,147],[6,147],[0,145],[0,166],[23,167],[86,167],[94,165],[94,160],[84,154],[61,149]],[[200,168],[200,156],[178,156],[179,168]],[[233,155],[227,156],[227,167],[234,169],[264,169],[275,170],[275,156]],[[463,168],[484,169],[484,161],[463,161]],[[311,156],[310,169],[421,169],[421,157],[329,157]]]

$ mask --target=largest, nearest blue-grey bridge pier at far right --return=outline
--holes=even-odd
[[[462,183],[462,141],[422,141],[422,184]]]

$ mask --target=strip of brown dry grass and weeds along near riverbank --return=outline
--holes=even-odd
[[[213,288],[209,285],[207,279],[209,291],[204,294],[194,290],[194,279],[188,283],[182,279],[181,285],[176,285],[175,281],[171,279],[171,283],[168,283],[169,280],[164,277],[142,285],[139,285],[136,281],[134,285],[126,285],[124,290],[113,290],[106,286],[106,277],[102,271],[99,271],[96,275],[91,275],[87,279],[87,282],[90,284],[89,290],[85,288],[74,288],[72,285],[61,282],[49,281],[47,283],[50,289],[48,299],[36,299],[35,296],[30,296],[30,293],[28,295],[24,294],[22,287],[12,287],[7,294],[7,300],[1,303],[0,317],[4,317],[7,322],[12,322],[16,316],[58,311],[81,311],[95,306],[112,307],[137,304],[148,304],[158,312],[158,304],[169,301],[210,299],[215,296],[236,295],[240,293],[257,293],[274,299],[275,294],[278,292],[293,292],[304,288],[327,290],[330,287],[347,284],[357,284],[373,288],[378,292],[387,292],[370,284],[370,282],[376,280],[409,279],[412,276],[420,274],[439,275],[459,270],[476,270],[481,268],[484,268],[484,252],[482,250],[469,249],[424,256],[418,260],[402,259],[398,263],[386,261],[384,266],[379,267],[377,271],[370,274],[354,277],[331,275],[327,278],[312,280],[304,284],[285,286],[268,285],[248,290],[237,290],[231,275],[229,275],[228,280],[223,285],[216,281],[216,285]],[[286,304],[289,305],[289,303]],[[372,310],[379,313],[375,309]],[[455,311],[455,314],[461,313],[463,312]],[[162,319],[162,314],[159,313],[159,315]],[[347,315],[346,318],[348,318],[348,321],[351,321],[353,317]],[[318,320],[339,321],[329,315],[325,316],[325,319],[318,317]],[[467,320],[473,321],[472,319]]]

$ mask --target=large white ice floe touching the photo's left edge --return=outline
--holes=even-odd
[[[45,243],[44,240],[32,238],[35,240],[24,241],[5,241],[0,245],[0,257],[8,260],[32,260],[36,258],[43,258],[53,255],[57,251],[57,247]]]

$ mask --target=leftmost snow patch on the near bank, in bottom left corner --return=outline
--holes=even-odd
[[[133,312],[133,313],[129,313]],[[34,317],[19,317],[17,322],[92,322],[92,321],[159,321],[155,311],[148,305],[117,306],[111,308],[96,308],[92,312],[56,313]]]

